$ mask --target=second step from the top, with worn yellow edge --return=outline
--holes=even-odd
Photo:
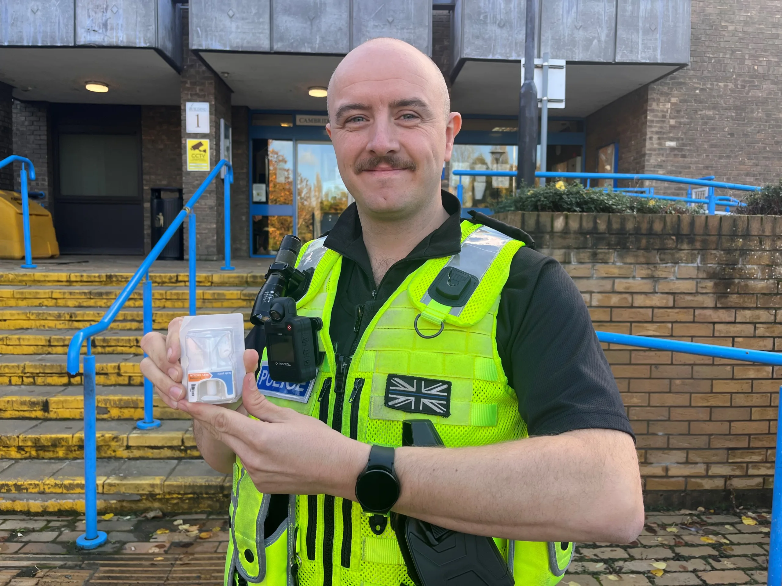
[[[196,306],[199,308],[246,307],[253,303],[257,287],[218,287],[199,285]],[[122,288],[110,286],[63,287],[52,285],[0,285],[0,307],[109,307]],[[189,306],[186,287],[160,286],[152,288],[152,306],[156,309],[185,309]],[[139,286],[125,302],[125,308],[143,306]]]

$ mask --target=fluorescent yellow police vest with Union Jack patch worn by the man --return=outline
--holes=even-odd
[[[463,222],[461,252],[429,259],[408,275],[372,318],[343,388],[335,392],[335,352],[328,331],[342,256],[325,248],[324,240],[302,248],[297,266],[313,268],[314,275],[297,307],[299,315],[323,320],[319,335],[325,359],[307,402],[269,397],[271,402],[319,417],[344,435],[371,444],[398,447],[402,421],[423,418],[434,423],[450,448],[527,437],[495,340],[500,292],[522,242]],[[430,295],[447,267],[475,277],[475,289],[461,306]],[[266,535],[270,501],[271,495],[256,490],[237,458],[225,584],[412,586],[390,523],[373,530],[371,516],[357,502],[292,495],[287,520]],[[557,584],[573,550],[572,543],[558,541],[495,542],[520,586]]]

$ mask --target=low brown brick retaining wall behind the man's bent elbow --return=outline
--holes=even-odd
[[[782,217],[498,217],[565,266],[597,330],[782,349]],[[605,348],[647,501],[770,498],[780,387],[771,366]]]

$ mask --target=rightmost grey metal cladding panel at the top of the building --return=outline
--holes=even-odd
[[[618,0],[616,60],[690,63],[690,0]]]

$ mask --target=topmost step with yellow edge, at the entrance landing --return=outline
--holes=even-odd
[[[135,263],[141,264],[141,259]],[[215,273],[195,273],[195,284],[199,287],[260,287],[264,284],[264,273],[268,263],[258,263],[257,272],[248,271],[217,271]],[[19,270],[0,272],[0,285],[35,285],[35,286],[108,286],[122,287],[133,276],[127,273],[113,272],[58,272],[36,270],[25,272]],[[167,285],[187,287],[190,282],[188,273],[155,273],[149,274],[152,285]]]

